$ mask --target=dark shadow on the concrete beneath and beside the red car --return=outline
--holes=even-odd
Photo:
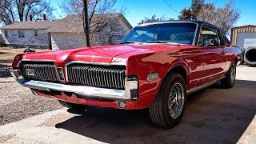
[[[182,122],[170,130],[154,126],[147,110],[97,107],[56,127],[107,143],[234,143],[254,118],[255,93],[256,82],[238,80],[232,89],[215,84],[190,94]]]

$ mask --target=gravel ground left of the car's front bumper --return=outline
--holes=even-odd
[[[57,101],[34,96],[10,77],[10,67],[0,65],[0,125],[62,107]]]

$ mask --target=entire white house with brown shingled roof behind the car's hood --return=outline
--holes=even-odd
[[[132,26],[122,14],[108,14],[108,23],[103,30],[95,34],[91,39],[94,46],[116,44],[125,36]],[[95,18],[100,16],[96,15]],[[7,46],[33,48],[47,48],[63,50],[86,46],[86,38],[83,34],[83,23],[78,16],[70,15],[62,20],[49,21],[37,20],[26,22],[14,22],[0,27],[2,39]]]

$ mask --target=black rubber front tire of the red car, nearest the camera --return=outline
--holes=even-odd
[[[170,113],[170,91],[173,90],[174,86],[180,86],[182,89],[182,97],[183,97],[183,104],[177,117],[173,117]],[[175,93],[176,94],[176,93]],[[177,94],[176,94],[176,101],[177,101]],[[172,101],[173,102],[173,101]],[[186,83],[184,78],[182,78],[181,74],[170,74],[162,83],[161,89],[158,92],[157,98],[155,98],[154,103],[150,106],[150,118],[152,122],[156,126],[160,126],[163,128],[173,128],[177,126],[178,123],[181,121],[184,110],[186,107]]]

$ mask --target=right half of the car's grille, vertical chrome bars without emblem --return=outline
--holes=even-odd
[[[126,66],[72,64],[67,66],[67,75],[72,84],[124,90]]]

